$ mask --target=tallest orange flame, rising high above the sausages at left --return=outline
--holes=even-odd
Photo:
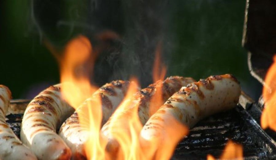
[[[78,36],[71,40],[64,50],[60,64],[62,96],[75,109],[98,88],[90,84],[89,71],[85,63],[90,61],[92,46],[88,38]],[[94,60],[93,60],[94,61]],[[91,62],[91,61],[90,61]],[[90,102],[90,101],[89,101]],[[86,154],[89,159],[103,159],[102,144],[100,143],[100,127],[102,121],[102,108],[100,97],[77,110],[79,122],[89,131],[86,142]]]

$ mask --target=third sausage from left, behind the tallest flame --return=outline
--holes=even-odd
[[[84,143],[88,139],[89,132],[79,123],[79,110],[87,110],[93,106],[95,98],[100,97],[102,102],[102,124],[111,116],[113,111],[121,103],[128,89],[129,81],[112,81],[99,88],[90,98],[71,115],[60,127],[59,135],[71,148],[73,159],[85,159]]]

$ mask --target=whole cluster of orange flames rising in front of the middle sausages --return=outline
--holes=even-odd
[[[98,53],[98,51],[94,52]],[[153,67],[154,82],[163,80],[166,74],[166,67],[161,63],[160,52],[161,45],[158,44]],[[98,89],[97,86],[90,84],[90,69],[93,67],[86,67],[91,65],[91,62],[95,62],[97,55],[96,53],[93,54],[93,48],[88,38],[78,36],[68,42],[63,57],[59,59],[61,83],[63,84],[62,96],[76,109],[81,126],[89,133],[88,141],[85,143],[87,159],[169,159],[173,154],[174,147],[187,134],[188,129],[171,118],[168,120],[171,127],[166,128],[168,135],[165,140],[152,141],[148,146],[142,145],[141,142],[143,141],[140,140],[142,124],[138,116],[139,103],[135,103],[133,99],[139,88],[136,78],[130,79],[132,83],[130,83],[125,99],[115,110],[112,115],[113,119],[110,121],[109,130],[116,142],[108,142],[102,136],[102,132],[100,132],[102,122],[101,98],[93,97],[93,102],[85,101]],[[151,97],[150,115],[154,114],[162,105],[162,98],[162,83],[160,83],[159,86],[156,86],[155,95]],[[86,103],[87,107],[79,107],[83,103]],[[122,117],[122,113],[127,113],[127,116]],[[177,133],[175,133],[175,127],[178,128]],[[115,152],[109,152],[106,149],[107,143],[112,143],[111,149],[112,147],[116,149]],[[166,144],[166,147],[157,144]]]

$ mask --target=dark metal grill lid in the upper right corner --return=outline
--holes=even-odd
[[[246,3],[242,44],[249,51],[251,74],[263,84],[276,53],[276,1],[247,0]]]

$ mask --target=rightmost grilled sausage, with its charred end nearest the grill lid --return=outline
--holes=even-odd
[[[171,138],[181,131],[179,128],[171,126],[174,124],[177,126],[177,123],[180,123],[192,128],[207,116],[232,109],[238,103],[240,93],[239,82],[231,74],[210,76],[191,83],[187,87],[182,87],[144,125],[140,132],[142,146],[144,148],[148,148],[150,145],[159,146],[157,150],[161,148],[162,155],[164,150],[169,149],[165,148],[167,146],[165,143],[171,141]],[[155,152],[158,152],[157,150]],[[163,155],[161,157],[164,158]],[[158,158],[160,157],[156,159]],[[169,158],[167,157],[167,159]]]

